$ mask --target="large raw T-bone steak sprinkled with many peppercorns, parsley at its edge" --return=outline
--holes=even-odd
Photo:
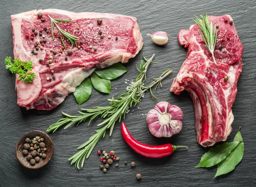
[[[43,13],[41,18],[37,16],[39,12]],[[72,20],[58,23],[64,31],[81,40],[77,42],[77,47],[73,46],[71,55],[63,48],[56,26],[55,40],[52,40],[48,15],[53,19]],[[17,104],[25,108],[55,108],[95,68],[128,62],[143,47],[135,17],[47,9],[28,11],[12,15],[11,18],[14,57],[23,61],[31,60],[35,73],[32,83],[20,81],[16,75]],[[101,24],[97,23],[98,18],[102,19]],[[70,41],[64,36],[62,38],[67,49],[70,49]]]

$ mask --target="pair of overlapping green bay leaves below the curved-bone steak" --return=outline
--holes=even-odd
[[[244,155],[244,142],[240,128],[233,142],[219,144],[209,149],[196,167],[212,167],[218,164],[215,177],[232,171]]]

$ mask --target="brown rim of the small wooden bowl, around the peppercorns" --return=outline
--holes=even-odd
[[[21,140],[22,140],[22,139],[26,139],[26,137],[28,137],[30,133],[38,133],[39,136],[43,135],[43,136],[44,136],[44,139],[47,138],[48,141],[50,142],[50,144],[52,144],[52,151],[50,151],[50,152],[48,153],[48,155],[47,155],[47,156],[48,156],[48,158],[47,158],[48,160],[47,160],[44,164],[40,164],[40,165],[38,165],[38,164],[36,164],[36,165],[28,164],[28,165],[26,165],[26,164],[23,163],[23,161],[22,161],[21,158],[20,158],[20,155],[18,154],[18,153],[19,153],[19,148],[18,148],[19,145],[24,143],[24,142],[22,142]],[[49,136],[47,133],[45,133],[44,131],[41,131],[41,130],[31,130],[31,131],[29,131],[29,132],[23,134],[23,136],[21,136],[21,138],[19,139],[19,141],[17,142],[16,147],[15,147],[15,153],[16,153],[16,157],[17,157],[18,161],[19,161],[20,164],[22,164],[24,167],[29,168],[29,169],[38,169],[38,168],[41,168],[41,167],[45,166],[46,164],[48,164],[48,162],[49,162],[50,159],[52,158],[53,151],[54,151],[54,144],[53,144],[53,142],[52,142],[52,139],[50,138],[50,136]],[[22,155],[22,156],[23,156],[23,155]],[[39,162],[38,162],[38,163],[39,163]]]

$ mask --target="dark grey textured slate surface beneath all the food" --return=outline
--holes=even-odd
[[[33,9],[59,8],[67,11],[82,12],[96,11],[115,14],[126,14],[137,17],[141,33],[144,38],[144,47],[140,54],[131,59],[125,67],[128,72],[112,81],[111,95],[100,94],[93,89],[90,99],[79,106],[73,94],[52,111],[26,111],[17,106],[15,92],[15,76],[5,69],[3,63],[7,56],[13,56],[11,14],[17,14]],[[0,11],[0,187],[75,187],[75,186],[255,186],[256,185],[256,156],[255,156],[255,121],[256,121],[256,94],[255,94],[255,43],[256,43],[256,1],[213,0],[199,2],[198,0],[154,1],[154,0],[15,0],[1,1]],[[186,49],[177,42],[177,33],[180,29],[187,29],[193,24],[194,15],[208,12],[209,15],[221,16],[230,14],[233,17],[239,38],[244,45],[243,72],[238,82],[238,94],[233,105],[233,132],[228,137],[231,141],[241,126],[245,150],[241,163],[227,175],[213,178],[216,167],[209,169],[194,168],[207,151],[196,142],[194,108],[188,94],[184,91],[179,96],[171,94],[169,88],[177,75],[183,61],[186,59]],[[166,31],[169,43],[166,46],[157,46],[146,36],[154,31]],[[90,108],[96,105],[108,105],[107,99],[112,95],[121,94],[127,85],[125,79],[135,79],[137,71],[135,64],[140,62],[142,54],[150,57],[156,54],[158,65],[151,65],[148,70],[148,79],[157,77],[167,68],[173,69],[173,74],[163,81],[163,88],[155,92],[157,99],[152,101],[147,93],[142,102],[128,114],[125,123],[131,134],[139,141],[148,144],[163,144],[171,142],[177,145],[187,145],[189,150],[177,150],[172,156],[163,159],[147,159],[138,155],[122,140],[120,126],[117,123],[113,136],[106,136],[93,150],[86,160],[84,167],[77,170],[67,160],[76,153],[76,148],[87,141],[97,129],[96,120],[88,127],[87,123],[79,127],[61,128],[50,134],[55,151],[51,161],[43,168],[29,170],[23,167],[16,159],[15,145],[20,137],[30,130],[46,131],[47,127],[60,119],[61,111],[76,114],[79,108]],[[114,89],[114,88],[117,88]],[[167,101],[178,105],[184,113],[183,129],[169,139],[158,139],[151,135],[146,123],[147,113],[157,102]],[[115,150],[120,156],[119,167],[112,166],[107,173],[99,169],[99,156],[96,151],[100,148]],[[136,161],[137,166],[132,169],[123,162]],[[142,174],[138,181],[136,173]]]

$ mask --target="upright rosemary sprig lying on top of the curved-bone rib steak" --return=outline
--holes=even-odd
[[[203,37],[205,45],[207,46],[208,50],[212,54],[213,62],[216,64],[213,51],[216,45],[218,30],[216,29],[216,25],[213,27],[212,22],[210,22],[210,20],[208,19],[207,13],[205,14],[205,16],[204,14],[200,15],[200,19],[195,16],[195,20],[194,19],[193,20],[200,27],[199,31]]]

